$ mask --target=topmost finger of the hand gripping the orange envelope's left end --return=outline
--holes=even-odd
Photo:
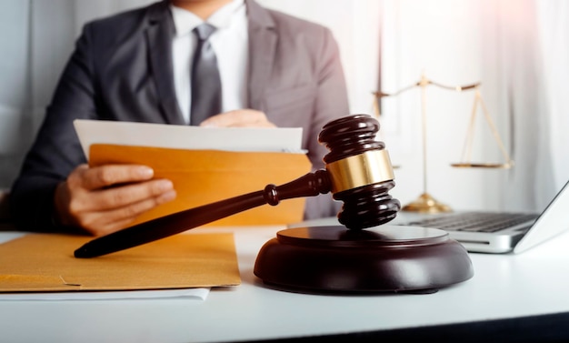
[[[99,189],[117,184],[145,181],[154,177],[154,170],[149,166],[106,165],[82,169],[81,184],[86,189]]]

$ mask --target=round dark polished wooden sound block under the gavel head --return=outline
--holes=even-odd
[[[464,247],[439,229],[332,226],[279,231],[259,251],[254,273],[301,292],[434,293],[474,270]]]

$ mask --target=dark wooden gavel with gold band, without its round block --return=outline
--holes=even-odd
[[[374,139],[378,131],[377,120],[367,115],[331,121],[318,136],[318,141],[330,150],[324,156],[325,169],[282,186],[267,185],[261,191],[190,208],[95,238],[76,249],[75,257],[110,254],[261,205],[276,206],[284,199],[315,197],[328,192],[344,202],[338,220],[348,229],[384,224],[396,216],[401,206],[388,194],[394,187],[394,174],[384,143]]]

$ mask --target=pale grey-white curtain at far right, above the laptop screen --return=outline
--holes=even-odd
[[[502,187],[504,207],[541,210],[569,179],[569,5],[488,0],[484,6],[495,15],[496,30],[486,37],[497,37],[499,101],[514,135],[516,166]]]

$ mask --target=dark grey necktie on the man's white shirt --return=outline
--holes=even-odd
[[[208,41],[214,31],[214,26],[205,23],[194,29],[197,47],[192,64],[190,124],[195,126],[221,112],[221,79],[214,49]]]

